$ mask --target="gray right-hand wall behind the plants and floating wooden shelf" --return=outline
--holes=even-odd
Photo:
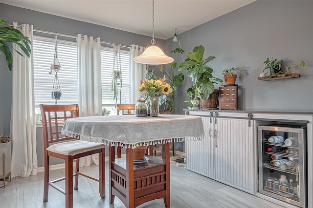
[[[313,112],[312,10],[312,0],[257,0],[179,34],[184,57],[202,44],[205,57],[216,57],[207,65],[213,68],[214,76],[223,80],[221,73],[225,68],[244,66],[247,75],[236,81],[242,91],[240,109]],[[178,42],[172,38],[166,40],[166,51],[177,47]],[[267,57],[284,59],[283,69],[301,60],[307,65],[300,78],[261,81],[257,77]],[[185,81],[179,90],[189,86]],[[185,92],[177,97],[175,113],[183,113],[182,109],[187,108],[188,104],[182,102],[186,99]]]

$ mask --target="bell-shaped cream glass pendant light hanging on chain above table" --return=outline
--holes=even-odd
[[[134,57],[133,60],[141,64],[149,65],[161,65],[172,63],[174,58],[166,56],[163,51],[155,45],[155,1],[152,0],[152,46],[146,48],[146,50],[137,57]]]

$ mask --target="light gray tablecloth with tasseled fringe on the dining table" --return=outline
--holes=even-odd
[[[89,116],[67,119],[62,133],[83,135],[84,140],[112,145],[121,142],[126,148],[138,142],[153,144],[201,140],[204,135],[202,119],[195,115],[167,115],[135,117],[135,115]]]

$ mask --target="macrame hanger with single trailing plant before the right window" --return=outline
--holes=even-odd
[[[116,66],[116,67],[115,67]],[[119,93],[118,93],[119,87]],[[119,103],[122,103],[121,96],[122,89],[122,73],[121,73],[121,45],[113,43],[113,71],[112,71],[112,91],[114,92],[115,107],[117,104],[117,97],[119,94]]]

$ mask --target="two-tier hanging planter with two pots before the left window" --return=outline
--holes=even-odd
[[[55,49],[54,49],[54,58],[53,58],[53,63],[51,64],[50,67],[50,72],[49,74],[52,74],[52,70],[55,71],[55,76],[54,76],[54,82],[53,82],[53,88],[51,91],[51,98],[55,99],[55,105],[57,105],[57,100],[61,98],[61,87],[59,83],[59,78],[58,78],[58,71],[61,69],[61,65],[59,62],[59,57],[58,57],[58,43],[57,43],[57,36],[55,36]]]

